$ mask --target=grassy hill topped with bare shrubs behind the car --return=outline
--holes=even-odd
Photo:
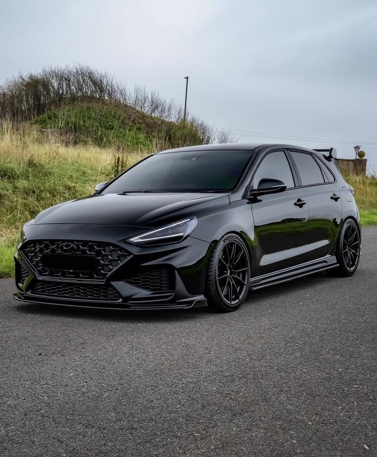
[[[225,132],[190,114],[186,119],[174,101],[140,87],[130,90],[88,67],[18,75],[0,87],[0,120],[16,128],[32,124],[41,139],[134,149],[156,142],[164,148],[227,142]]]

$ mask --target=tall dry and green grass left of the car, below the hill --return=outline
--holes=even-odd
[[[94,186],[152,151],[40,143],[28,127],[0,126],[0,276],[10,274],[20,227],[40,211],[93,193]]]

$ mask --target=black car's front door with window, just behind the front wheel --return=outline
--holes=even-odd
[[[265,155],[253,178],[256,189],[263,178],[279,179],[287,190],[258,196],[252,202],[255,226],[256,274],[263,275],[304,263],[309,210],[304,189],[296,188],[292,166],[284,151]]]

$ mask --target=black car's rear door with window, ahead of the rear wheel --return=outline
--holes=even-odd
[[[337,239],[342,218],[342,199],[336,179],[326,165],[310,152],[289,151],[300,188],[309,207],[309,260],[325,257]]]

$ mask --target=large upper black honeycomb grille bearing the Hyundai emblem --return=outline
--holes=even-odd
[[[72,251],[69,254],[64,250],[67,246]],[[41,277],[97,281],[103,281],[116,267],[132,257],[130,252],[119,246],[98,241],[29,241],[20,251]],[[57,267],[51,267],[51,259]],[[77,259],[81,261],[80,265]],[[86,259],[89,267],[83,268],[82,263]],[[59,266],[62,264],[64,266]]]

